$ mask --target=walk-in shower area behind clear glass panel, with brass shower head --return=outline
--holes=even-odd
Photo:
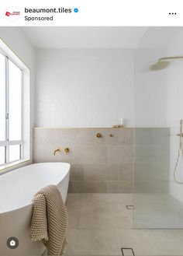
[[[183,229],[182,45],[181,27],[152,27],[136,51],[134,229]]]

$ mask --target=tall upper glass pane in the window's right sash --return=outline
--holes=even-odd
[[[21,139],[21,70],[9,61],[9,140]]]

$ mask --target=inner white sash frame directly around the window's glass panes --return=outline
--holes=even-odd
[[[0,141],[0,146],[5,147],[5,163],[2,163],[2,165],[7,163],[13,163],[18,160],[22,159],[23,155],[23,125],[22,125],[22,119],[23,119],[23,74],[22,74],[22,68],[19,67],[19,65],[12,60],[12,58],[9,58],[4,52],[0,51],[1,54],[5,57],[5,141]],[[21,71],[21,139],[20,140],[11,140],[9,141],[9,61],[12,61],[14,65],[16,65],[17,68]],[[19,146],[19,159],[14,160],[12,162],[9,161],[9,146],[17,145]]]

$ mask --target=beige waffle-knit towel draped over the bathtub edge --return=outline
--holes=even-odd
[[[67,209],[57,186],[49,185],[34,195],[31,239],[42,240],[47,247],[47,255],[65,253],[67,223]]]

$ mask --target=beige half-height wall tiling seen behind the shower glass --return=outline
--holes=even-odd
[[[134,130],[134,191],[136,193],[169,191],[170,138],[170,128],[136,128]]]

